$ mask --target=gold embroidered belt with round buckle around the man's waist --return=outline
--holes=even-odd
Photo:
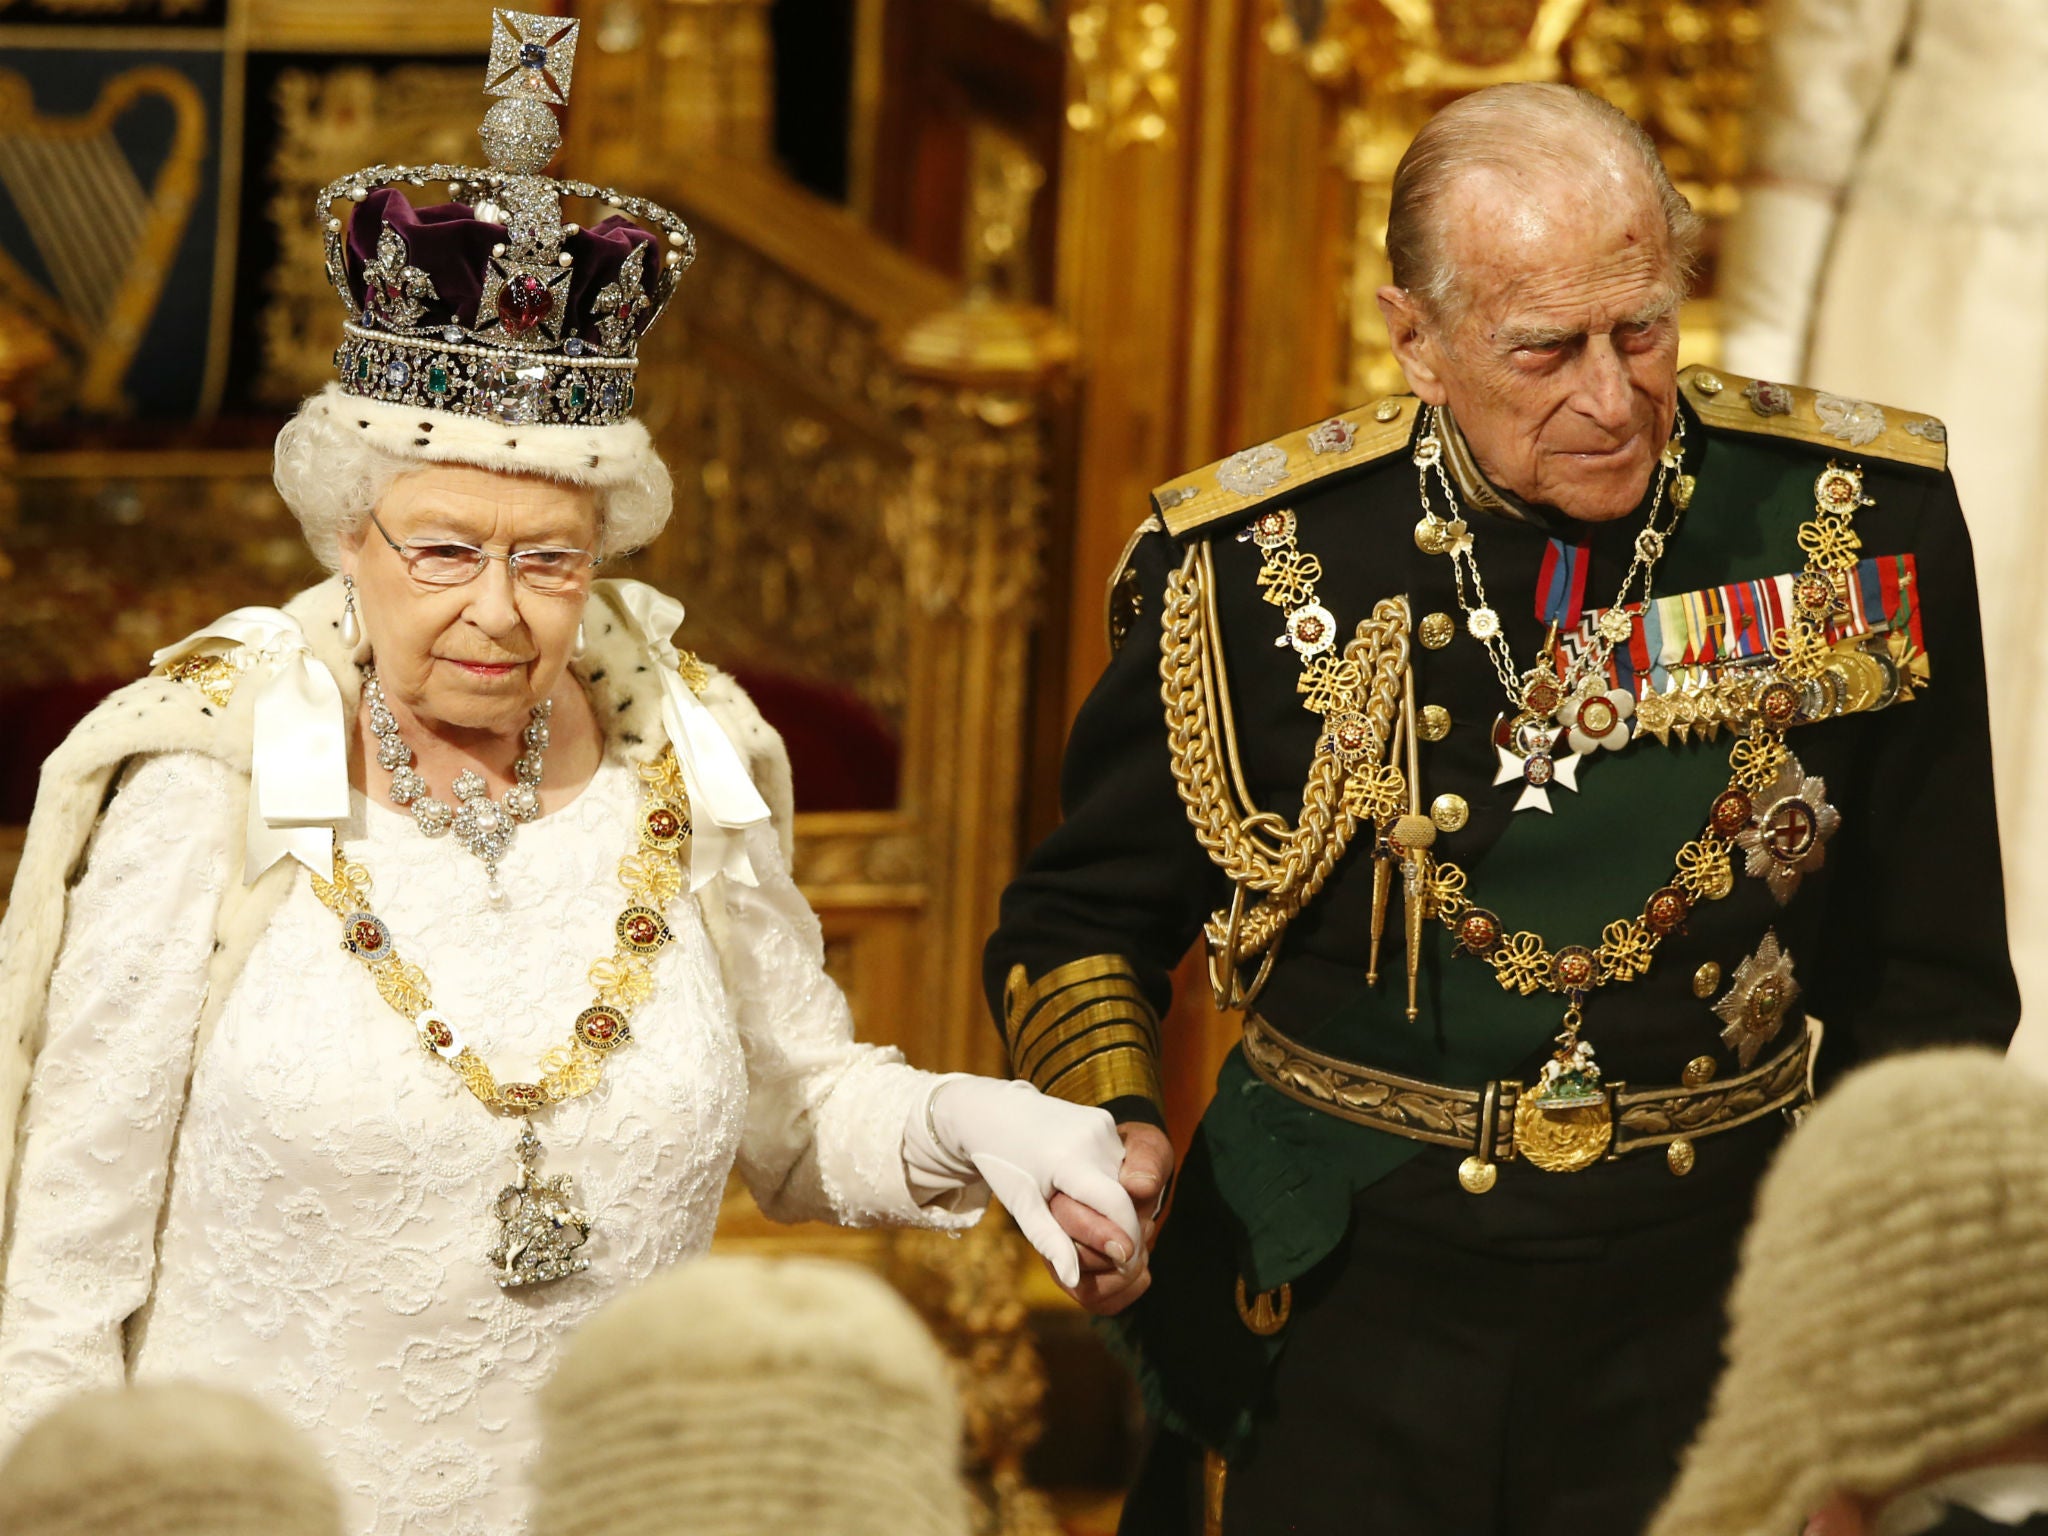
[[[1339,1120],[1464,1151],[1458,1182],[1473,1194],[1493,1188],[1495,1161],[1516,1157],[1554,1174],[1575,1174],[1645,1147],[1663,1147],[1671,1171],[1690,1174],[1696,1139],[1808,1102],[1815,1042],[1819,1030],[1802,1028],[1784,1051],[1741,1077],[1681,1087],[1606,1083],[1595,1102],[1552,1110],[1513,1081],[1444,1087],[1325,1057],[1257,1014],[1245,1014],[1245,1061],[1262,1081]]]

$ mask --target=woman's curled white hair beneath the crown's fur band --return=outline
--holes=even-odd
[[[362,434],[348,432],[334,412],[301,410],[276,434],[270,479],[285,506],[299,518],[313,557],[334,571],[340,569],[342,543],[369,522],[369,514],[383,502],[391,483],[434,463],[461,463],[461,459],[395,455]],[[479,467],[504,473],[504,465]],[[561,479],[539,469],[532,473]],[[563,479],[563,483],[575,481]],[[627,479],[592,489],[600,559],[641,549],[668,524],[668,469],[651,453],[633,465]]]

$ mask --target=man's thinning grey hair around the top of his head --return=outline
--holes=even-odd
[[[1679,289],[1690,287],[1700,264],[1704,223],[1671,184],[1651,135],[1612,102],[1548,82],[1475,90],[1421,125],[1395,168],[1386,209],[1386,260],[1395,287],[1405,289],[1430,317],[1454,319],[1464,293],[1442,250],[1444,195],[1475,170],[1522,186],[1534,176],[1583,178],[1597,164],[1585,152],[1589,139],[1606,141],[1624,168],[1636,164],[1649,178],[1663,207],[1673,274]]]

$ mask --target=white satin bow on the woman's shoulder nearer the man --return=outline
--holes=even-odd
[[[645,582],[614,582],[612,596],[662,680],[662,725],[690,791],[690,889],[700,891],[715,874],[760,885],[745,829],[768,819],[768,801],[754,788],[731,737],[678,672],[682,655],[670,637],[682,625],[682,604]]]

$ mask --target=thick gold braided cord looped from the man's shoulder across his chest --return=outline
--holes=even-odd
[[[1237,895],[1206,928],[1210,967],[1225,1006],[1257,995],[1272,952],[1288,922],[1323,889],[1360,821],[1393,817],[1407,795],[1403,774],[1386,764],[1401,680],[1409,662],[1409,616],[1399,598],[1374,606],[1372,618],[1341,657],[1317,657],[1300,692],[1323,715],[1323,737],[1303,788],[1300,819],[1290,827],[1272,811],[1255,811],[1233,788],[1233,764],[1223,737],[1229,698],[1221,686],[1214,614],[1208,602],[1212,565],[1196,543],[1167,578],[1159,641],[1159,698],[1165,705],[1174,786],[1194,836],[1231,877]],[[1262,899],[1247,909],[1249,895]],[[1249,989],[1239,967],[1266,954]]]

